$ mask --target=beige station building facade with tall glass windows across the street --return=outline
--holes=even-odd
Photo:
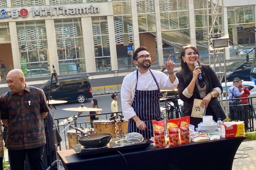
[[[207,62],[206,0],[1,0],[0,60],[27,79],[90,74],[91,79],[122,77],[135,69],[133,51],[146,46],[152,68],[172,54],[179,66],[181,47],[195,45]],[[256,1],[224,1],[226,59],[255,46]],[[209,22],[210,22],[209,18]],[[177,70],[179,68],[177,67]]]

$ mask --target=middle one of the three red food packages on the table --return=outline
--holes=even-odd
[[[169,132],[169,146],[177,146],[179,144],[180,123],[180,119],[168,120],[167,128]]]

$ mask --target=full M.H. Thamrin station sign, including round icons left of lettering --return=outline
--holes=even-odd
[[[50,7],[39,7],[39,8],[31,8],[32,10],[32,16],[40,16],[40,17],[46,17],[46,16],[59,16],[59,15],[77,15],[77,14],[93,14],[93,13],[100,13],[99,7],[94,7],[93,5],[90,5],[89,7],[79,7],[79,8],[66,8],[64,6],[50,6]],[[4,11],[2,12],[2,18],[10,17],[9,15],[3,15]],[[19,15],[20,14],[20,15]],[[27,17],[29,14],[28,10],[25,8],[22,8],[20,11],[18,9],[11,9],[11,17],[12,18],[18,18],[21,17]]]

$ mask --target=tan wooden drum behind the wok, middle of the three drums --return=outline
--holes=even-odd
[[[93,121],[94,133],[112,133],[115,135],[115,122],[109,120]]]

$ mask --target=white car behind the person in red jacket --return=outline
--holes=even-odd
[[[232,86],[233,82],[227,82],[227,88],[225,87],[225,83],[221,83],[223,87],[223,107],[226,107],[226,96],[228,94],[228,89]],[[256,97],[256,85],[254,82],[251,81],[243,81],[242,84],[250,90],[250,96],[249,97]],[[250,100],[250,99],[249,99]],[[251,102],[250,102],[251,103]],[[252,103],[256,103],[256,98],[252,98]],[[228,101],[229,104],[229,101]],[[255,106],[255,105],[254,105]]]

